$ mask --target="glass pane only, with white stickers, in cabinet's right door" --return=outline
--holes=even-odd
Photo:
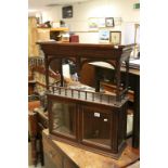
[[[89,108],[83,111],[83,139],[111,146],[109,115]]]

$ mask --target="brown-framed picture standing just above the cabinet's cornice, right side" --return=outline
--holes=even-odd
[[[121,44],[121,31],[111,31],[109,42],[113,44]]]

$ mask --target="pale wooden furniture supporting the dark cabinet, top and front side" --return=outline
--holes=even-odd
[[[118,160],[55,141],[48,129],[42,132],[42,142],[46,168],[124,168],[140,158],[129,142]]]

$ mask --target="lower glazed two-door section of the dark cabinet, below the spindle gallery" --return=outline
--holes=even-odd
[[[94,102],[89,102],[75,95],[70,99],[69,94],[68,98],[48,94],[49,130],[53,139],[118,158],[126,146],[127,99],[112,105],[103,102],[109,99],[112,103],[111,98],[98,93],[104,100],[93,95]]]

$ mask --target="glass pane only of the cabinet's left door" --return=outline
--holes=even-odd
[[[75,135],[76,106],[74,104],[57,103],[52,105],[53,131]]]

